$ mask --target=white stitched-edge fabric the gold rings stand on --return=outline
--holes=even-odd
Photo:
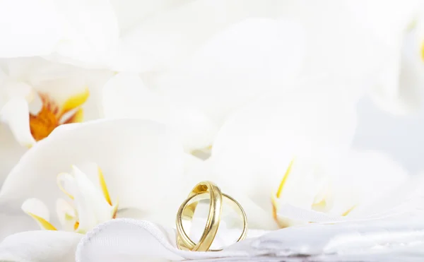
[[[375,258],[384,257],[384,261],[417,261],[423,256],[424,222],[310,224],[267,234],[251,230],[248,239],[218,252],[182,251],[175,239],[175,230],[151,222],[112,220],[81,240],[76,261],[381,261]]]

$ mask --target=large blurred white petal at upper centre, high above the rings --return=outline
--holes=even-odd
[[[296,23],[250,18],[211,38],[181,68],[151,81],[172,101],[197,107],[221,125],[261,93],[288,88],[300,71],[303,47]]]

